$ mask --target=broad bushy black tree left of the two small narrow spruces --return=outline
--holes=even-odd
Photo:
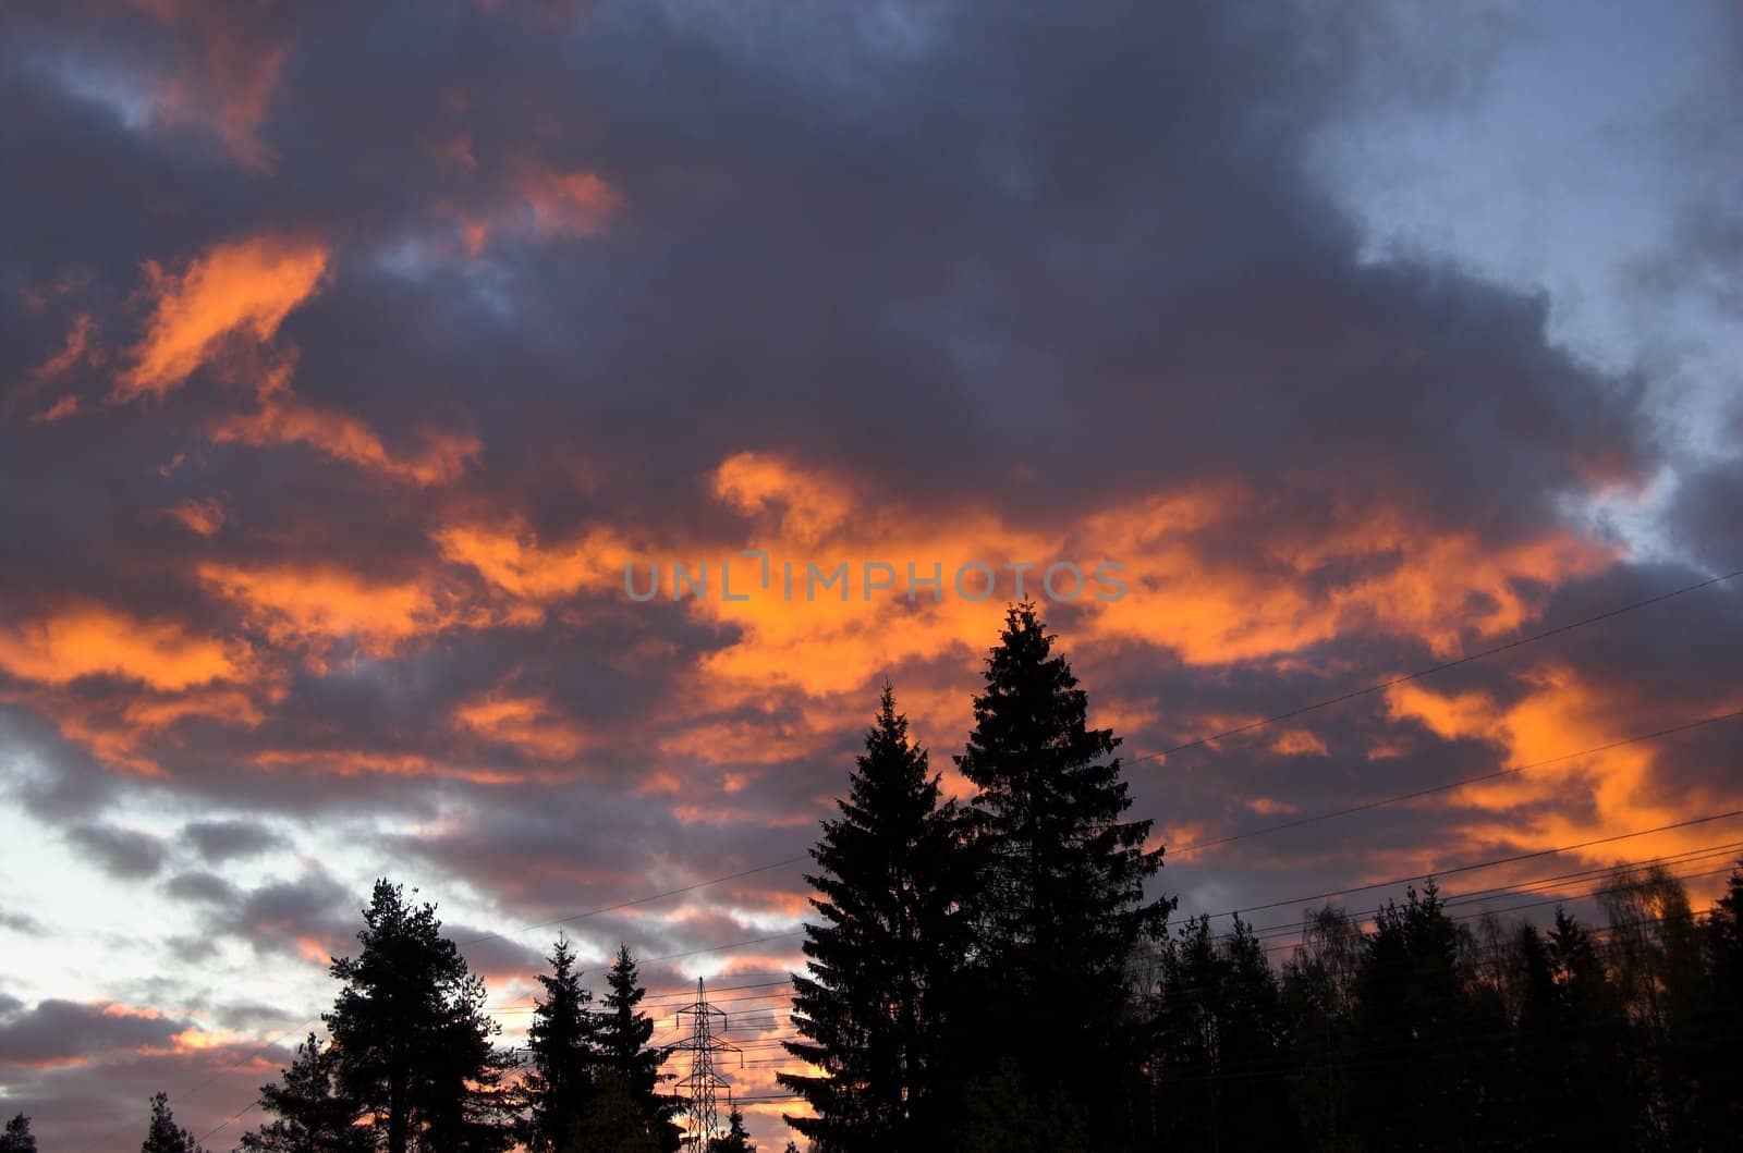
[[[345,982],[326,1014],[338,1085],[375,1118],[387,1153],[505,1150],[509,1059],[492,1045],[485,982],[441,935],[436,906],[413,907],[399,885],[376,881],[363,918],[363,949],[331,967]]]

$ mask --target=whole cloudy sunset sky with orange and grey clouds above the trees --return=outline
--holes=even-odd
[[[885,679],[964,792],[1011,564],[1082,570],[1042,613],[1154,843],[1553,759],[1171,850],[1183,914],[1743,808],[1740,723],[1614,745],[1743,709],[1743,580],[1159,756],[1743,566],[1734,5],[0,21],[0,1109],[44,1148],[159,1089],[230,1148],[380,876],[505,1043],[558,921],[647,958],[661,1038],[739,986],[779,1148],[804,853]]]

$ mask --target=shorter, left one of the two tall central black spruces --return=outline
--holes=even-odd
[[[957,810],[887,684],[865,745],[805,878],[823,920],[805,925],[812,975],[793,977],[805,1040],[786,1050],[823,1073],[779,1075],[816,1111],[790,1123],[840,1153],[920,1148],[967,944]]]

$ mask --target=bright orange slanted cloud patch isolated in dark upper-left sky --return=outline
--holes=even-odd
[[[214,244],[181,273],[146,263],[153,301],[145,336],[129,350],[112,401],[164,397],[218,355],[227,340],[265,345],[286,315],[314,296],[328,270],[324,244],[258,235]]]

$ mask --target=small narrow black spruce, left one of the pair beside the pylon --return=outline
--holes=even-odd
[[[516,1099],[526,1109],[521,1136],[532,1153],[575,1153],[600,1071],[593,993],[575,972],[566,937],[551,949],[544,996],[526,1029],[526,1071]]]

